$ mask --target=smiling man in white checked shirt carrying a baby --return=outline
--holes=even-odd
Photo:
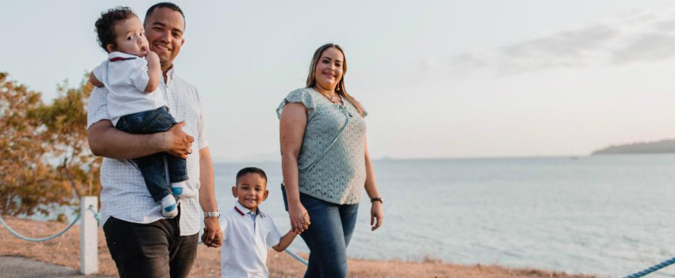
[[[130,18],[137,19],[136,15]],[[173,67],[173,60],[184,43],[182,10],[173,3],[157,3],[145,14],[144,27],[149,50],[159,56],[161,69],[160,90],[152,94],[161,94],[157,97],[163,98],[166,109],[179,123],[168,131],[151,134],[120,131],[112,122],[114,113],[109,111],[106,99],[109,92],[104,87],[93,90],[88,103],[87,127],[93,154],[104,156],[102,223],[120,277],[186,277],[196,259],[202,219],[199,206],[205,212],[202,241],[209,247],[219,247],[222,241],[214,197],[213,163],[198,92],[180,79]],[[111,59],[110,63],[115,61]],[[163,207],[153,199],[141,170],[131,161],[160,152],[186,159],[189,179],[184,188],[193,192],[178,198],[173,218],[170,217],[173,214],[163,217]]]

